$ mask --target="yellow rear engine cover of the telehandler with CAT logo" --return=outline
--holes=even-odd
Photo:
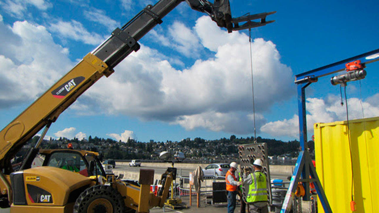
[[[41,166],[14,172],[11,212],[72,212],[75,193],[94,185],[91,179],[65,169]],[[73,199],[72,197],[75,197]],[[41,207],[41,208],[33,208]]]

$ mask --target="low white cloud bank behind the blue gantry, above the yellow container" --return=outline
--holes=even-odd
[[[365,102],[362,102],[362,104],[357,98],[348,99],[349,120],[361,119],[363,116],[379,116],[378,105],[373,105],[370,103],[378,96],[379,93],[368,97]],[[313,135],[313,124],[315,123],[346,120],[346,108],[345,105],[340,105],[340,97],[338,96],[329,95],[325,100],[318,98],[307,98],[307,111],[307,132],[309,132],[309,135]],[[295,114],[288,120],[283,119],[282,121],[268,122],[263,125],[260,130],[272,136],[288,136],[298,138],[299,117]]]

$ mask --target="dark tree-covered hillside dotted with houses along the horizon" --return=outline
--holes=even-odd
[[[34,136],[28,141],[27,144],[34,146],[38,141],[39,136]],[[276,139],[267,139],[257,137],[257,143],[267,143],[268,155],[286,155],[289,157],[297,157],[299,153],[300,143],[297,140],[283,142]],[[87,139],[78,138],[67,139],[59,138],[50,140],[43,140],[41,143],[41,149],[61,149],[67,147],[69,143],[78,144],[75,149],[88,149],[90,151],[99,152],[103,155],[104,159],[157,159],[158,154],[155,150],[180,150],[185,153],[187,158],[195,157],[211,157],[211,153],[216,155],[233,155],[237,156],[238,144],[250,144],[254,143],[254,137],[236,138],[235,135],[231,135],[230,138],[220,138],[215,140],[205,140],[203,138],[183,139],[182,141],[169,141],[166,142],[141,142],[135,139],[128,139],[126,142],[115,141],[110,138],[99,138],[95,136],[88,137]],[[91,145],[91,146],[89,146]],[[92,146],[93,145],[93,146]],[[309,151],[312,155],[314,150],[314,142],[308,142]],[[17,153],[17,157],[24,156],[28,149],[21,149]],[[188,150],[191,150],[189,152]],[[216,150],[216,152],[215,152]]]

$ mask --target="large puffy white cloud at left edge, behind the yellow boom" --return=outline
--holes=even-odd
[[[73,65],[43,26],[0,22],[0,35],[0,108],[36,99]]]

